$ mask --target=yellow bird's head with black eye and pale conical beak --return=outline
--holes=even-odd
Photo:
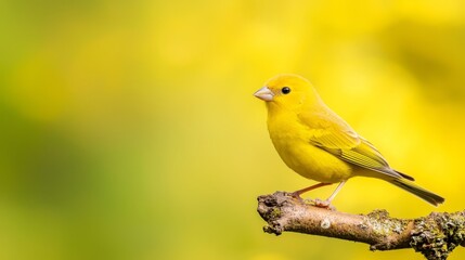
[[[311,83],[294,74],[281,74],[269,79],[254,95],[267,102],[267,106],[297,109],[302,104],[313,104],[320,98]]]

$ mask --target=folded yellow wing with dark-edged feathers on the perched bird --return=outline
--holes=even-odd
[[[301,113],[299,119],[311,129],[310,143],[325,150],[341,160],[384,173],[396,179],[413,178],[391,169],[373,144],[333,112]]]

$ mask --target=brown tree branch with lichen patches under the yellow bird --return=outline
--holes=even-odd
[[[336,237],[370,245],[370,250],[413,248],[426,259],[447,259],[465,246],[465,211],[432,212],[417,219],[390,218],[386,210],[351,214],[319,208],[289,193],[275,192],[258,197],[258,212],[268,222],[263,231],[284,231]]]

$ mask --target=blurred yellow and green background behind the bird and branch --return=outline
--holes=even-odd
[[[253,96],[280,73],[447,198],[361,178],[338,210],[465,208],[463,1],[2,0],[0,34],[0,259],[423,259],[262,233],[258,195],[314,183]]]

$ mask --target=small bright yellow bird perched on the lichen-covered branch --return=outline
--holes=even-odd
[[[435,206],[444,202],[414,184],[412,177],[390,168],[373,144],[323,103],[307,79],[277,75],[254,95],[266,101],[270,138],[284,162],[300,176],[320,182],[295,192],[295,196],[339,183],[319,204],[328,207],[344,183],[360,176],[388,181]]]

